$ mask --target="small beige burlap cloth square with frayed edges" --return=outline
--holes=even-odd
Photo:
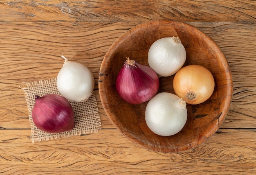
[[[81,134],[97,133],[98,129],[101,129],[101,119],[99,116],[96,97],[93,92],[86,102],[77,103],[69,101],[74,110],[76,123],[74,129],[62,133],[46,133],[41,131],[34,125],[31,115],[35,104],[35,95],[43,96],[46,94],[61,94],[57,90],[56,79],[35,81],[26,84],[27,87],[22,89],[25,92],[27,101],[29,122],[31,125],[31,140],[33,143],[56,138],[67,138]]]

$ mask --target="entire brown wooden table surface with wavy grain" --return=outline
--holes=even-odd
[[[2,0],[0,9],[0,174],[256,174],[255,0]],[[220,129],[180,153],[155,153],[126,138],[99,98],[108,48],[131,27],[159,19],[209,35],[233,74],[233,99]],[[32,143],[20,86],[55,78],[61,55],[92,71],[102,129]]]

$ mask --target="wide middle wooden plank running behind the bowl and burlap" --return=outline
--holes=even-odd
[[[23,81],[57,76],[61,55],[88,66],[103,128],[114,128],[101,105],[97,87],[101,61],[111,44],[138,22],[0,23],[0,127],[28,129]],[[255,128],[256,25],[247,22],[189,22],[212,37],[229,61],[234,96],[221,128]],[[27,29],[29,28],[29,32]],[[242,33],[242,34],[241,34]],[[243,122],[241,122],[243,121]]]

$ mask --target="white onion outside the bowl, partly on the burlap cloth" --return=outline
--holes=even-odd
[[[83,64],[65,59],[63,67],[58,72],[57,89],[62,96],[70,101],[85,102],[92,95],[94,77]]]

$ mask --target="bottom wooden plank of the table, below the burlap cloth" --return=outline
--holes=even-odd
[[[101,129],[90,135],[34,144],[31,143],[29,134],[29,130],[0,130],[0,173],[256,173],[255,129],[220,129],[197,148],[181,153],[148,151],[124,137],[117,129]]]

